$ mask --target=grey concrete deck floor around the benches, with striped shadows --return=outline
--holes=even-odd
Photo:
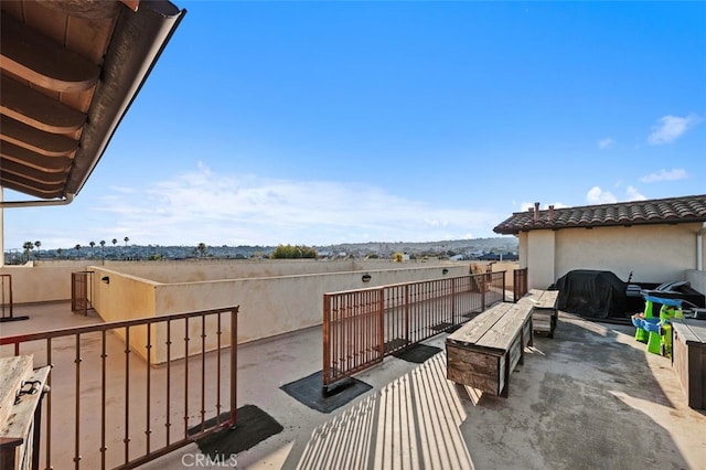
[[[99,321],[65,305],[20,314],[30,320],[1,323],[0,335]],[[332,414],[280,389],[321,370],[320,329],[242,345],[238,406],[258,406],[284,431],[237,455],[237,468],[706,469],[706,412],[686,405],[671,360],[633,332],[561,312],[554,339],[535,335],[509,398],[447,381],[443,352],[424,364],[386,357],[356,376],[372,391]],[[443,349],[445,339],[426,344]],[[72,447],[71,435],[52,438]],[[143,468],[195,467],[199,452],[191,445]]]

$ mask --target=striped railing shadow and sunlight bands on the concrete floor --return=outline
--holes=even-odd
[[[471,469],[464,419],[445,354],[436,354],[317,427],[285,468]]]

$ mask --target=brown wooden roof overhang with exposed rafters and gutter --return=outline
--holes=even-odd
[[[167,0],[0,1],[0,188],[77,194],[184,14]]]

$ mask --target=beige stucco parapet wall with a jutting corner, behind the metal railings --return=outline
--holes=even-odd
[[[376,287],[389,284],[425,280],[439,277],[468,275],[469,266],[425,266],[397,269],[362,270],[349,273],[324,273],[300,276],[259,277],[249,279],[221,279],[200,282],[162,284],[150,279],[126,275],[104,267],[90,267],[94,274],[93,305],[106,321],[127,320],[140,317],[213,310],[239,306],[238,343],[269,338],[281,333],[321,324],[323,293],[361,287]],[[168,266],[163,267],[169,269]],[[446,275],[442,269],[448,269]],[[370,282],[363,282],[362,275],[370,274]],[[101,278],[108,277],[109,282]],[[229,344],[229,323],[224,320],[222,345]],[[183,325],[174,325],[183,339]],[[207,329],[215,331],[215,317],[207,320]],[[121,332],[118,333],[125,339]],[[131,349],[145,355],[146,330],[130,330]],[[165,359],[165,329],[153,327],[151,332],[151,362],[161,363]],[[201,324],[189,323],[190,353],[201,351]],[[170,354],[182,356],[184,342],[172,340]],[[206,338],[206,350],[216,345],[216,337]]]

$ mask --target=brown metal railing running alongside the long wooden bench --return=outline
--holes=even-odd
[[[328,389],[504,299],[504,271],[324,293],[323,386]]]

